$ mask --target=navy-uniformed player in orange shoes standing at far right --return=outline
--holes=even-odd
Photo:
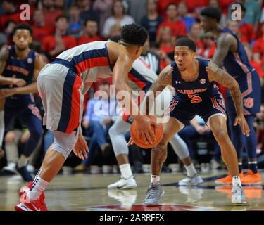
[[[232,122],[236,117],[236,110],[230,91],[227,91],[227,115],[230,119],[231,139],[237,150],[241,182],[242,184],[261,184],[262,179],[257,169],[256,159],[257,140],[253,128],[254,116],[260,112],[260,79],[258,72],[249,63],[243,44],[231,30],[226,27],[220,27],[220,18],[221,13],[218,8],[206,7],[201,11],[201,23],[204,32],[212,32],[217,38],[217,49],[212,60],[219,67],[225,68],[238,82],[243,98],[243,113],[251,131],[251,135],[246,137],[242,134],[239,127],[233,126]],[[242,153],[244,148],[246,149],[249,163],[246,176],[243,176],[242,171]],[[215,182],[218,184],[230,184],[232,177],[227,174],[225,178],[218,179]]]

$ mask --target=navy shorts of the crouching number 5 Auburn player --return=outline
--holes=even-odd
[[[194,104],[188,103],[178,96],[174,96],[170,102],[170,117],[175,117],[184,126],[196,115],[200,115],[207,122],[215,114],[222,114],[226,117],[225,102],[220,94]]]

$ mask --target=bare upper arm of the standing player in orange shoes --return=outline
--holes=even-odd
[[[215,54],[213,55],[213,63],[218,65],[220,68],[222,67],[222,61],[227,56],[228,51],[230,50],[230,46],[234,37],[231,34],[221,34],[217,41],[217,49]]]

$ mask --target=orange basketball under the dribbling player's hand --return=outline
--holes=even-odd
[[[155,116],[147,115],[147,117],[151,118],[151,120],[156,120]],[[153,141],[153,146],[156,146],[163,138],[163,124],[160,124],[160,128],[151,125],[151,129],[154,131],[154,134],[156,136],[156,140]],[[153,148],[153,146],[151,146],[151,143],[149,142],[144,143],[144,141],[142,140],[137,140],[137,121],[136,120],[132,122],[132,125],[130,128],[130,134],[131,134],[132,141],[134,141],[134,143],[137,146],[141,148]]]

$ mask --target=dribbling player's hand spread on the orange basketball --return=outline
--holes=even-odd
[[[134,117],[134,120],[137,120],[137,139],[153,144],[156,136],[151,129],[151,125],[158,126],[157,122],[143,115]]]

